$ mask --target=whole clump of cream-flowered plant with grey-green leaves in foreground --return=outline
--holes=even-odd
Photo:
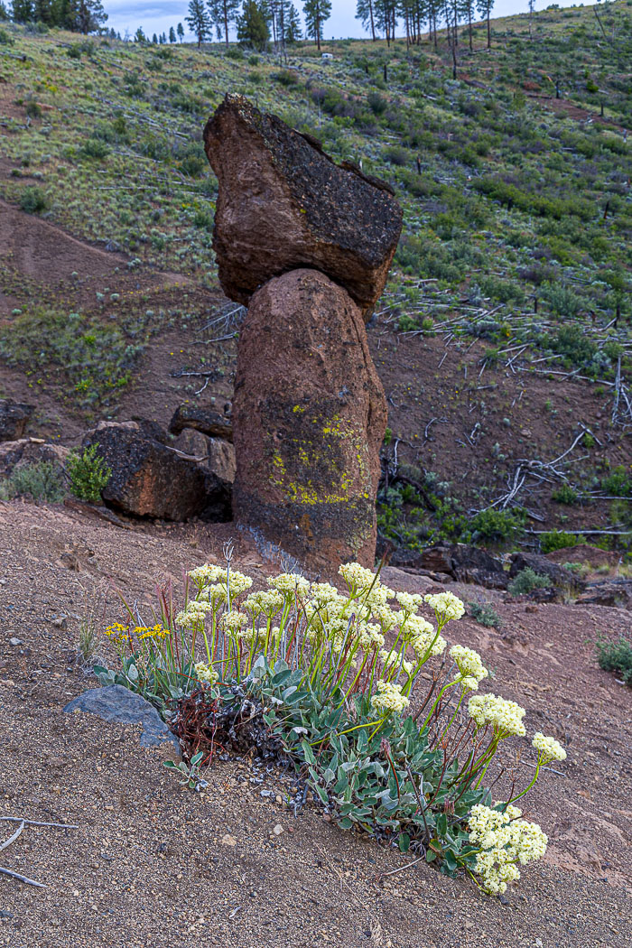
[[[525,711],[480,690],[489,672],[477,651],[448,647],[460,599],[395,592],[358,563],[339,569],[344,593],[292,573],[253,590],[231,559],[190,570],[181,608],[162,591],[153,625],[126,607],[129,624],[107,629],[122,670],[96,668],[101,680],[144,694],[166,720],[190,700],[196,720],[204,707],[216,720],[247,699],[248,720],[258,707],[339,827],[410,848],[449,875],[464,869],[490,894],[517,881],[547,837],[515,801],[566,752],[536,733],[533,779],[515,791],[510,775],[508,798],[493,802],[483,781],[490,768],[494,784],[504,774],[497,752],[525,738]]]

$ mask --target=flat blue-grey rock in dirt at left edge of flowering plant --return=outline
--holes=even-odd
[[[121,684],[108,684],[104,688],[84,691],[82,695],[68,702],[63,710],[86,711],[88,714],[96,714],[101,720],[112,720],[117,724],[142,724],[141,747],[158,747],[171,740],[178,754],[181,753],[178,741],[153,704]]]

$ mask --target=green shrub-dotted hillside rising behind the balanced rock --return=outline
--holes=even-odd
[[[400,461],[407,442],[408,462],[424,466],[413,439],[430,411],[406,418],[390,394],[398,385],[410,389],[424,346],[447,344],[460,362],[449,370],[449,398],[442,395],[449,362],[428,382],[434,389],[424,397],[428,405],[434,399],[434,414],[462,414],[465,390],[471,412],[472,392],[502,389],[502,378],[520,374],[521,385],[530,379],[545,386],[536,413],[555,419],[559,409],[546,385],[585,379],[579,403],[587,422],[610,424],[603,441],[597,436],[600,464],[624,465],[632,423],[624,400],[632,376],[632,0],[596,11],[538,12],[532,38],[526,15],[497,20],[492,48],[485,44],[482,26],[473,51],[461,30],[455,80],[442,35],[437,48],[427,38],[410,48],[403,40],[389,48],[327,44],[330,62],[299,45],[281,62],[235,46],[80,41],[3,25],[0,197],[113,260],[118,252],[117,272],[127,281],[119,273],[120,287],[109,278],[93,282],[80,300],[71,292],[73,273],[59,275],[70,281],[67,292],[51,290],[5,257],[4,365],[37,376],[39,391],[48,388],[66,410],[94,416],[116,408],[151,339],[203,324],[219,287],[211,250],[217,182],[202,129],[226,91],[237,91],[320,138],[336,159],[388,179],[404,206],[402,239],[374,323],[399,353],[382,374],[390,373],[389,426],[403,442]],[[175,288],[183,282],[186,296]],[[233,355],[221,357],[229,394]],[[398,378],[397,364],[406,359],[408,374]],[[618,413],[616,390],[623,391]],[[491,410],[494,393],[484,394],[487,403],[481,407],[477,395],[477,410],[498,414],[498,426],[509,428],[522,396]],[[415,404],[423,401],[415,396]],[[547,453],[546,438],[551,451],[559,438],[568,447],[577,410],[568,413],[567,428],[554,421],[554,432],[533,435],[540,442],[530,450]],[[523,421],[525,429],[532,420]],[[463,447],[479,445],[481,462],[493,469],[485,482],[489,501],[529,435],[516,436],[510,451],[488,427],[455,438]],[[482,428],[489,445],[479,443]],[[424,445],[428,440],[426,432]],[[430,465],[440,466],[441,457]],[[459,465],[453,459],[441,476],[455,478]],[[593,493],[598,467],[591,461],[578,475]],[[467,484],[475,507],[472,491],[486,477],[479,470]]]

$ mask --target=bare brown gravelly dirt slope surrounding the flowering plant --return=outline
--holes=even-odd
[[[531,730],[569,748],[560,774],[544,774],[525,808],[550,835],[547,857],[503,902],[425,865],[384,876],[409,858],[334,829],[313,808],[295,818],[263,798],[262,789],[286,785],[274,770],[256,785],[249,763],[218,764],[205,793],[182,791],[161,766],[168,746],[144,751],[134,729],[63,713],[93,684],[70,662],[84,591],[94,597],[112,579],[142,601],[153,580],[218,557],[227,529],[122,531],[63,508],[0,504],[0,814],[79,825],[25,830],[2,853],[2,865],[46,888],[0,877],[0,944],[629,944],[632,695],[593,654],[596,636],[627,629],[629,613],[504,603],[452,587],[495,599],[504,629],[464,619],[460,641],[494,669],[493,690],[527,707]],[[238,554],[255,576],[274,568],[241,537]],[[392,569],[388,582],[430,583]],[[107,617],[117,617],[112,596]],[[22,644],[10,646],[13,637]],[[526,743],[507,758],[518,754],[522,781],[532,773]]]

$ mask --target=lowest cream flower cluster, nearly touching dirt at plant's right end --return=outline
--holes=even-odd
[[[482,887],[499,895],[507,884],[520,878],[521,866],[540,859],[549,842],[537,823],[522,820],[517,807],[507,806],[504,812],[478,804],[468,816],[469,840],[480,848],[475,871]]]

